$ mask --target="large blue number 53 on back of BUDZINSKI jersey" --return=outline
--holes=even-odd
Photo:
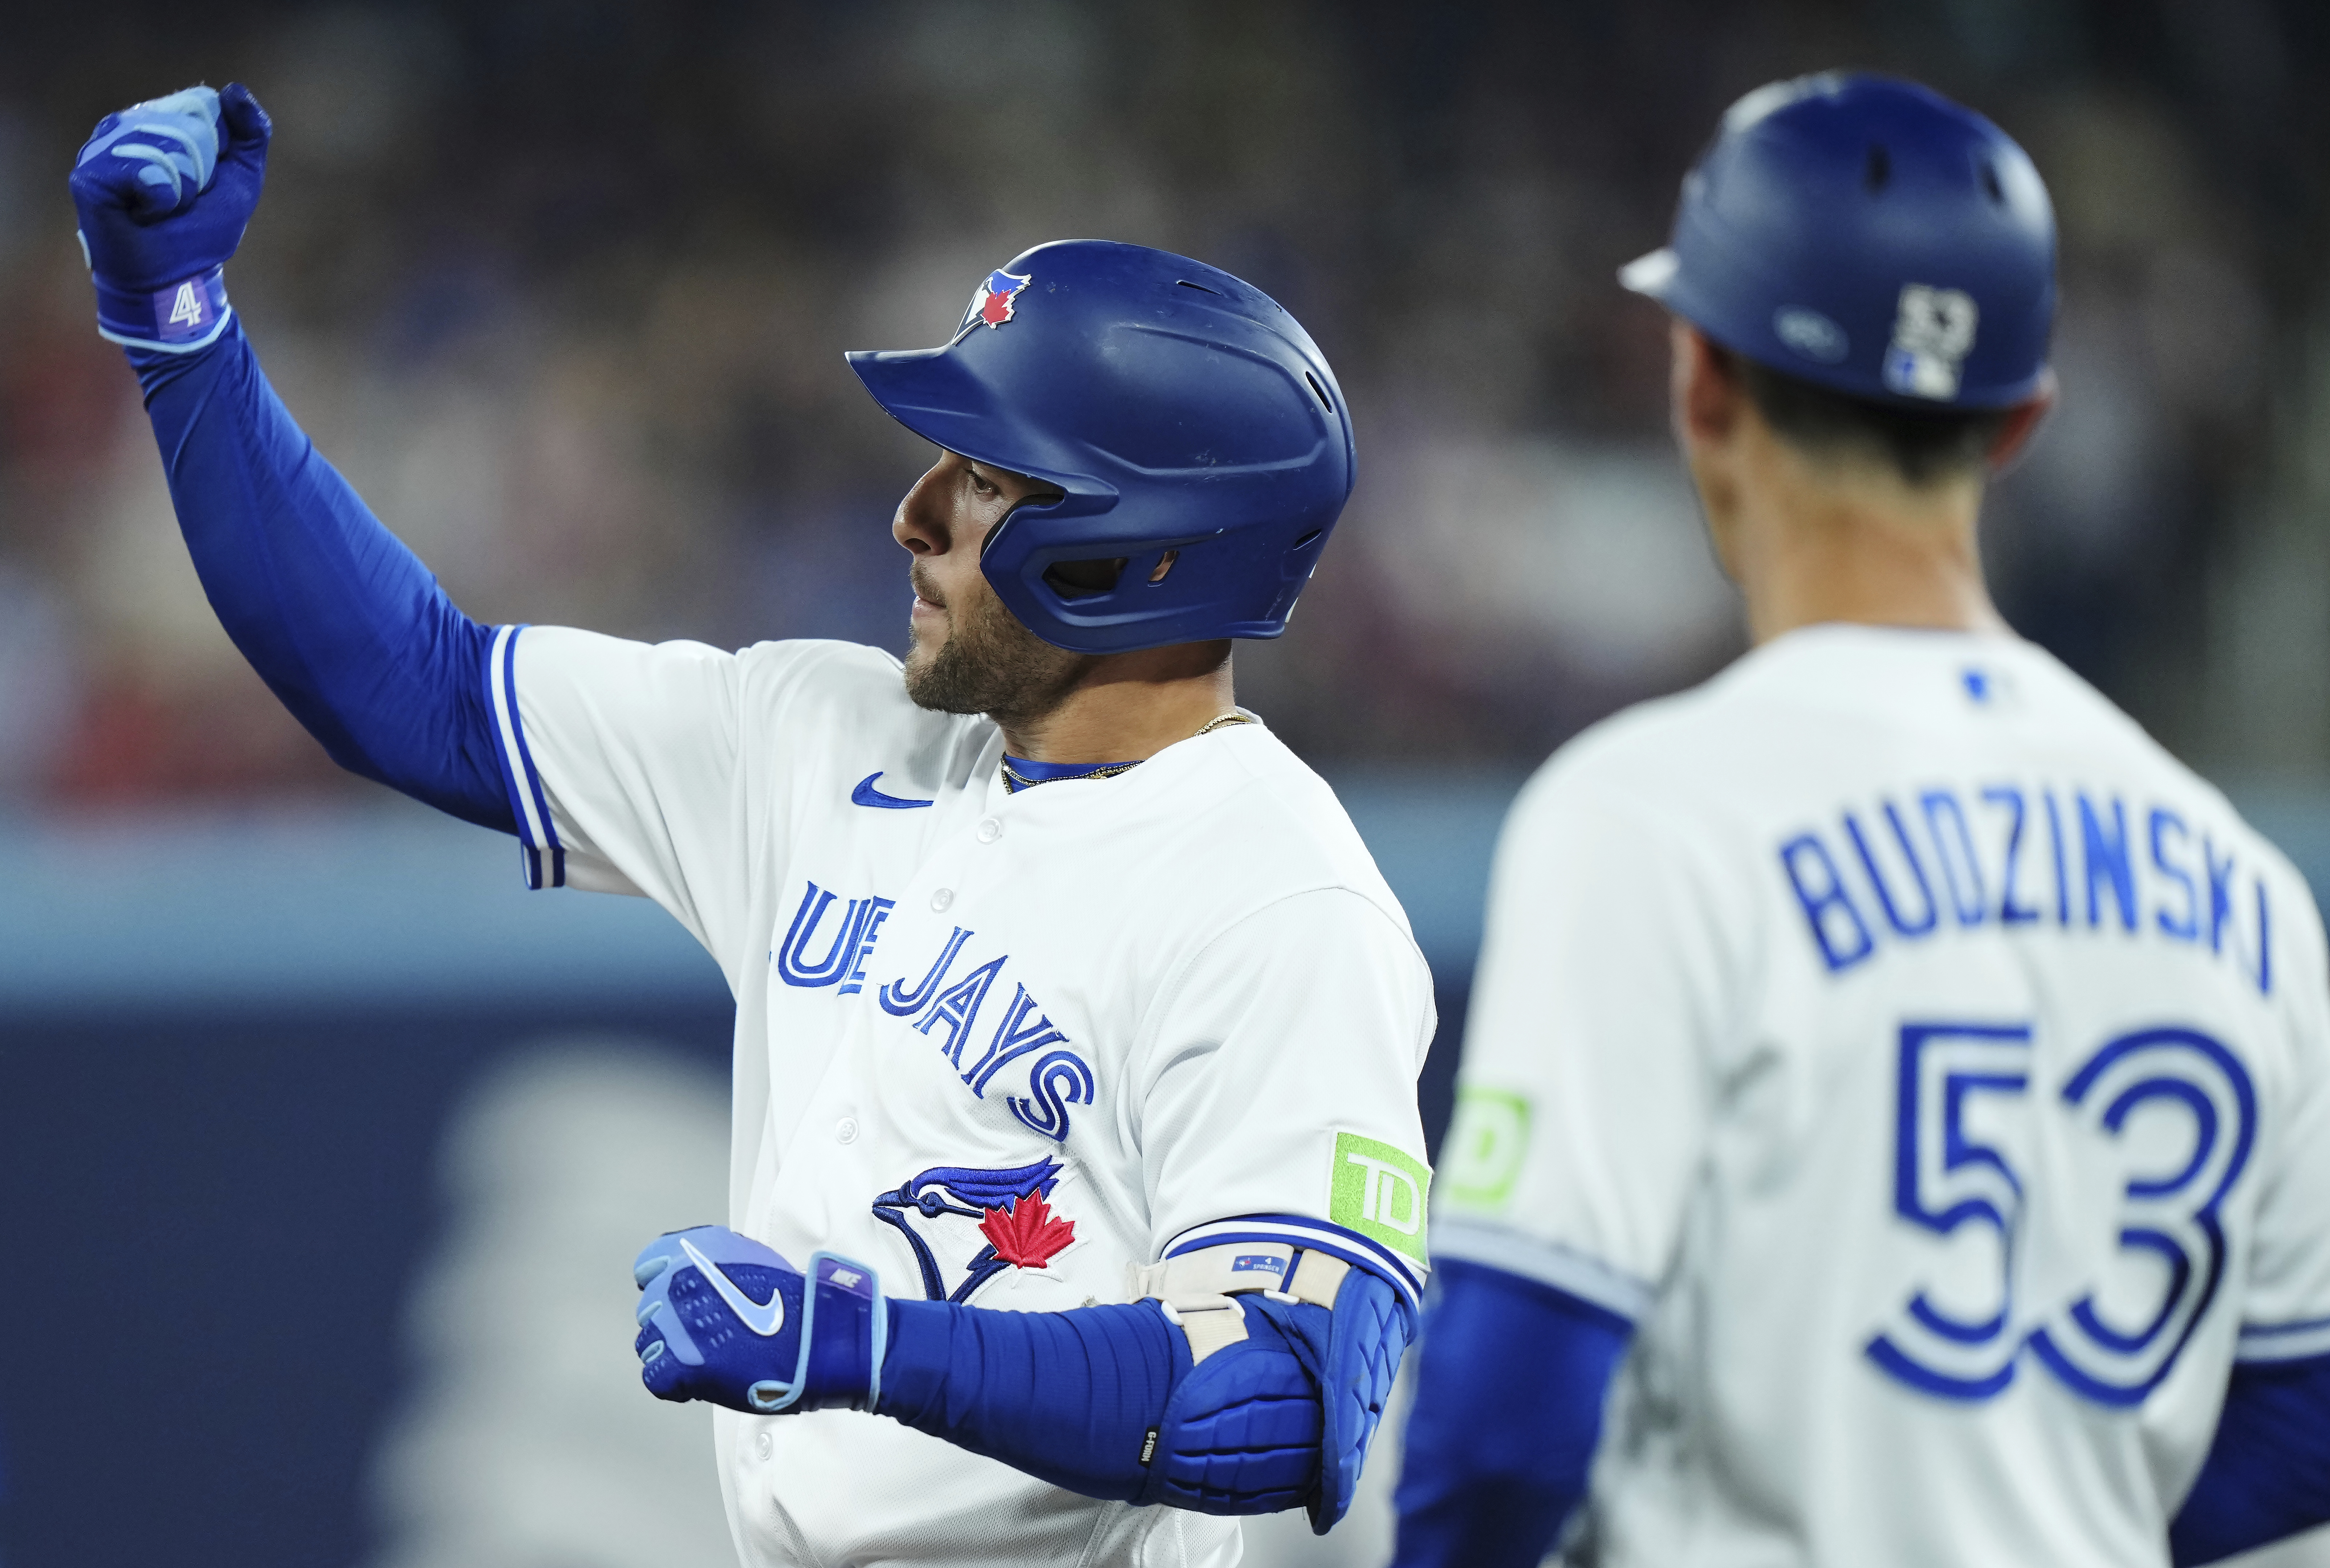
[[[1897,1060],[1892,1207],[1929,1246],[1866,1356],[1950,1400],[2039,1368],[2139,1405],[2225,1279],[2218,1212],[2258,1128],[2239,1058],[2193,1027],[2146,1027],[2039,1083],[2034,1025],[1913,1020]]]

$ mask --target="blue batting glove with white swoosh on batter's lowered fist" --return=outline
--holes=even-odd
[[[659,1400],[750,1414],[874,1410],[890,1314],[874,1270],[813,1253],[809,1272],[727,1226],[673,1230],[631,1265],[638,1379]]]

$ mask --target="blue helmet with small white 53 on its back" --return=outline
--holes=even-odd
[[[2055,207],[2013,137],[1915,82],[1822,72],[1724,114],[1675,235],[1619,280],[1785,375],[1897,408],[2046,384]]]

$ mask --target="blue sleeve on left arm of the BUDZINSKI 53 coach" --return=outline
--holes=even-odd
[[[1554,1286],[1433,1265],[1396,1568],[1535,1568],[1587,1491],[1633,1326]]]

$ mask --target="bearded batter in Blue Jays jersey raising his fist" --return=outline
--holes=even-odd
[[[480,627],[268,389],[221,282],[270,126],[110,116],[72,191],[226,629],[359,774],[652,897],[736,995],[729,1228],[650,1244],[748,1563],[1230,1563],[1351,1498],[1414,1326],[1431,979],[1230,694],[1351,489],[1309,336],[1042,245],[850,366],[939,459],[911,652]],[[902,585],[904,587],[904,585]],[[510,1302],[522,1312],[524,1302]],[[1139,1507],[1163,1503],[1167,1507]]]

